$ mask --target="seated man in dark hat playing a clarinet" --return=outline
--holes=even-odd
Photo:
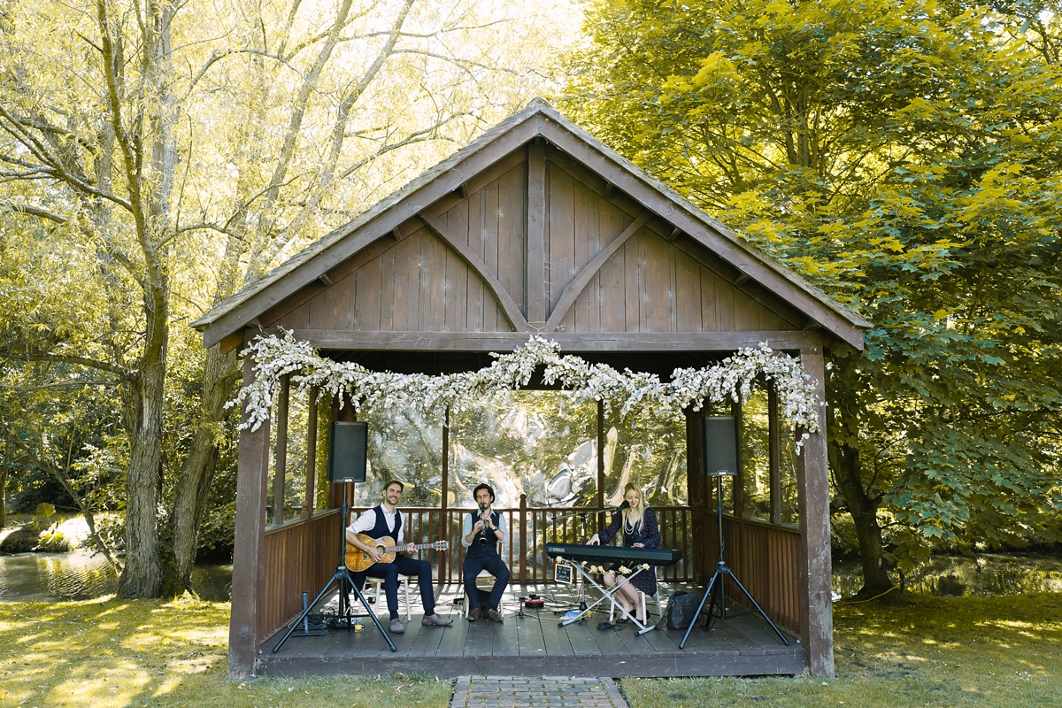
[[[462,568],[465,591],[472,607],[468,621],[475,622],[485,615],[492,622],[500,622],[501,614],[498,607],[501,604],[501,593],[509,585],[509,568],[498,555],[498,542],[506,540],[506,517],[491,508],[491,504],[494,503],[494,489],[490,485],[480,484],[473,490],[473,497],[476,498],[479,511],[465,516],[461,534],[461,545],[468,549],[465,551]],[[485,612],[480,607],[479,588],[476,587],[476,577],[482,570],[495,577]]]

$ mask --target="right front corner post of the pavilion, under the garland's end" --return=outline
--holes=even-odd
[[[811,377],[817,401],[825,401],[821,346],[801,349],[804,373]],[[796,465],[800,508],[800,633],[812,674],[834,675],[834,608],[829,551],[829,472],[826,462],[826,412],[818,410],[819,432],[804,441]],[[798,431],[802,434],[802,431]]]

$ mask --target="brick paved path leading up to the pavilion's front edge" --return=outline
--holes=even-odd
[[[458,676],[450,708],[628,708],[611,678]]]

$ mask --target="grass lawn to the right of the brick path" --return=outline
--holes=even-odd
[[[837,677],[621,681],[631,708],[1062,706],[1062,595],[834,605]]]

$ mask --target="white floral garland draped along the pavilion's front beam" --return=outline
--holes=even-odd
[[[309,343],[296,341],[288,331],[281,336],[256,336],[241,352],[243,357],[249,355],[255,358],[255,380],[226,403],[227,408],[246,402],[247,417],[240,424],[241,430],[258,430],[269,418],[280,378],[288,374],[302,394],[313,386],[319,387],[319,397],[349,394],[359,413],[379,405],[424,411],[449,407],[461,411],[496,394],[508,395],[527,386],[538,366],[545,366],[543,382],[560,383],[572,400],[603,400],[610,410],[613,401],[621,400],[620,413],[624,416],[649,401],[679,412],[689,405],[699,411],[705,401],[738,401],[749,396],[753,381],[764,375],[774,381],[781,412],[794,431],[819,430],[818,402],[800,359],[774,352],[766,344],[758,349],[739,349],[704,368],[676,368],[670,382],[661,381],[655,374],[618,372],[580,357],[561,356],[556,342],[534,335],[512,353],[491,352],[495,361],[485,368],[443,376],[373,372],[353,362],[336,362],[319,356]],[[805,432],[796,438],[798,453],[807,437]]]

